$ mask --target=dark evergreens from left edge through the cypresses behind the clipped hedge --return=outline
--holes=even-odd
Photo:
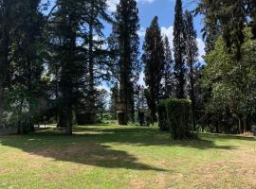
[[[54,5],[1,0],[0,9],[0,119],[11,120],[19,132],[50,117],[68,135],[76,115],[95,123],[106,96],[98,89],[102,81],[114,84],[111,108],[119,112],[120,125],[135,121],[136,111],[147,105],[156,121],[164,98],[190,94],[195,102],[196,32],[181,0],[175,8],[174,60],[157,17],[139,60],[135,0],[120,0],[113,15],[107,14],[106,0],[57,0]],[[105,23],[113,26],[109,38],[103,34]],[[146,89],[137,85],[143,67]]]

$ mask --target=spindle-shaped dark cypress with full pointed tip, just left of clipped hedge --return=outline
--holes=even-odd
[[[145,42],[143,44],[142,61],[145,65],[145,84],[148,88],[148,106],[152,119],[156,121],[156,107],[159,104],[161,93],[161,81],[164,75],[164,44],[161,30],[158,26],[158,18],[155,17],[151,26],[147,28]]]

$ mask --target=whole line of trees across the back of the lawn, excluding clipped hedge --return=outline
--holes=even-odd
[[[183,11],[176,0],[174,46],[155,16],[140,51],[136,0],[120,0],[112,14],[106,0],[0,0],[1,124],[26,133],[54,119],[70,135],[76,122],[94,124],[105,109],[119,125],[145,116],[154,123],[162,100],[189,98],[192,129],[247,131],[255,115],[255,7],[201,0]],[[204,16],[205,63],[194,14]]]

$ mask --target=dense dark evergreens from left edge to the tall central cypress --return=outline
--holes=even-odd
[[[37,119],[55,114],[58,127],[72,134],[74,114],[95,122],[97,87],[112,78],[119,81],[122,111],[132,111],[137,12],[135,0],[120,1],[113,17],[106,0],[57,0],[51,6],[1,0],[0,119],[11,117],[19,132],[27,132]],[[109,47],[105,22],[113,25]]]

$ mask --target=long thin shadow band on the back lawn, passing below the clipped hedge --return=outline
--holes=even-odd
[[[206,139],[194,139],[184,141],[174,141],[171,139],[169,132],[162,132],[155,128],[101,128],[101,127],[89,127],[89,128],[78,128],[77,136],[98,138],[105,143],[121,143],[125,145],[134,146],[184,146],[198,149],[234,149],[235,146],[217,146],[213,140]],[[81,131],[83,131],[81,133]],[[85,132],[84,132],[85,131]],[[93,132],[93,133],[91,133]],[[211,135],[206,138],[211,138]],[[221,136],[220,136],[221,138]],[[246,137],[245,137],[246,138]]]

